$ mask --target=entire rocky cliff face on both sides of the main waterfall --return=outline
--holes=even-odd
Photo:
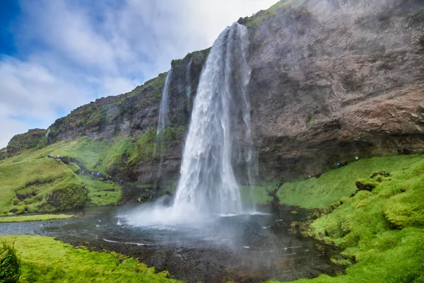
[[[249,30],[248,92],[260,178],[317,171],[397,147],[423,148],[424,8],[419,0],[280,1],[239,23]],[[172,62],[163,163],[151,151],[150,158],[126,163],[130,151],[122,151],[123,166],[114,173],[152,183],[162,166],[163,175],[177,177],[207,54],[193,52]],[[165,77],[73,110],[50,127],[49,142],[124,137],[131,139],[132,152],[137,144],[153,149],[146,135],[158,125]]]

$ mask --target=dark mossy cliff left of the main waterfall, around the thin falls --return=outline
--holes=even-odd
[[[192,92],[199,83],[201,68],[208,50],[193,52],[180,60],[172,61],[173,76],[170,84],[170,122],[172,125],[188,123],[191,108],[186,96],[187,64],[192,59]],[[159,74],[120,96],[100,98],[76,108],[70,115],[58,119],[49,128],[49,142],[76,139],[81,136],[102,137],[113,141],[114,137],[139,137],[147,129],[156,129],[160,98],[167,73]]]

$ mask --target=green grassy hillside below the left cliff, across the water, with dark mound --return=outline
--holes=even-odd
[[[103,166],[117,162],[114,158],[121,158],[119,150],[122,149],[119,148],[125,144],[126,139],[110,144],[85,137],[60,141],[35,151],[22,151],[0,161],[0,214],[54,212],[86,205],[117,204],[121,196],[118,185],[78,175],[80,169],[76,164],[65,164],[59,159],[47,158],[47,155],[74,157],[87,168],[102,171],[102,166],[96,166],[101,163],[102,156],[108,162]]]

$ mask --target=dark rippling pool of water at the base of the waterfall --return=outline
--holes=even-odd
[[[0,234],[90,242],[93,249],[140,258],[187,282],[260,282],[335,272],[329,256],[312,239],[288,233],[292,221],[305,217],[302,212],[210,215],[184,225],[134,221],[137,209],[95,207],[72,219],[0,224]]]

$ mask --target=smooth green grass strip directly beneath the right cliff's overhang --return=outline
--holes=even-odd
[[[329,207],[350,196],[356,190],[355,181],[369,178],[377,171],[398,174],[408,171],[424,160],[422,155],[389,156],[354,161],[342,168],[324,173],[320,178],[310,178],[293,183],[284,183],[278,190],[278,197],[284,204],[298,205],[305,208]],[[371,180],[371,179],[370,179]],[[253,186],[254,198],[259,204],[269,200],[266,190],[273,190],[276,183]],[[242,187],[242,195],[249,194],[249,187]]]

